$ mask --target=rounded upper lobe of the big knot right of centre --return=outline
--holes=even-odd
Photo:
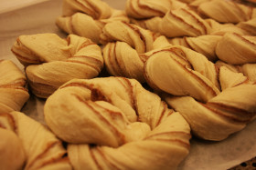
[[[149,85],[172,95],[190,95],[208,101],[219,94],[215,65],[206,56],[180,45],[151,55],[144,65],[144,75]]]

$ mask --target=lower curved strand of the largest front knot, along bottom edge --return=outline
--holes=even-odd
[[[143,140],[111,148],[107,146],[69,145],[71,164],[83,169],[176,169],[188,154],[186,122],[181,115],[168,116]],[[154,155],[154,156],[152,156]],[[87,157],[87,159],[82,159]]]

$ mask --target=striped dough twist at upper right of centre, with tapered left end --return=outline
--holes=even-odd
[[[164,17],[132,22],[167,37],[208,35],[211,31],[206,20],[186,7],[169,10]]]

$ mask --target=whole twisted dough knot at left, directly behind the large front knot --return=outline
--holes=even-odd
[[[101,72],[101,48],[90,39],[54,34],[21,35],[12,47],[26,67],[32,92],[43,98],[73,78],[92,78]]]

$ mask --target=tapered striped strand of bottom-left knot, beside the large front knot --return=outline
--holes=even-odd
[[[51,165],[56,169],[71,169],[69,159],[64,157],[66,150],[61,141],[45,125],[19,112],[13,112],[12,115],[16,120],[17,135],[27,155],[25,169],[43,169]]]

